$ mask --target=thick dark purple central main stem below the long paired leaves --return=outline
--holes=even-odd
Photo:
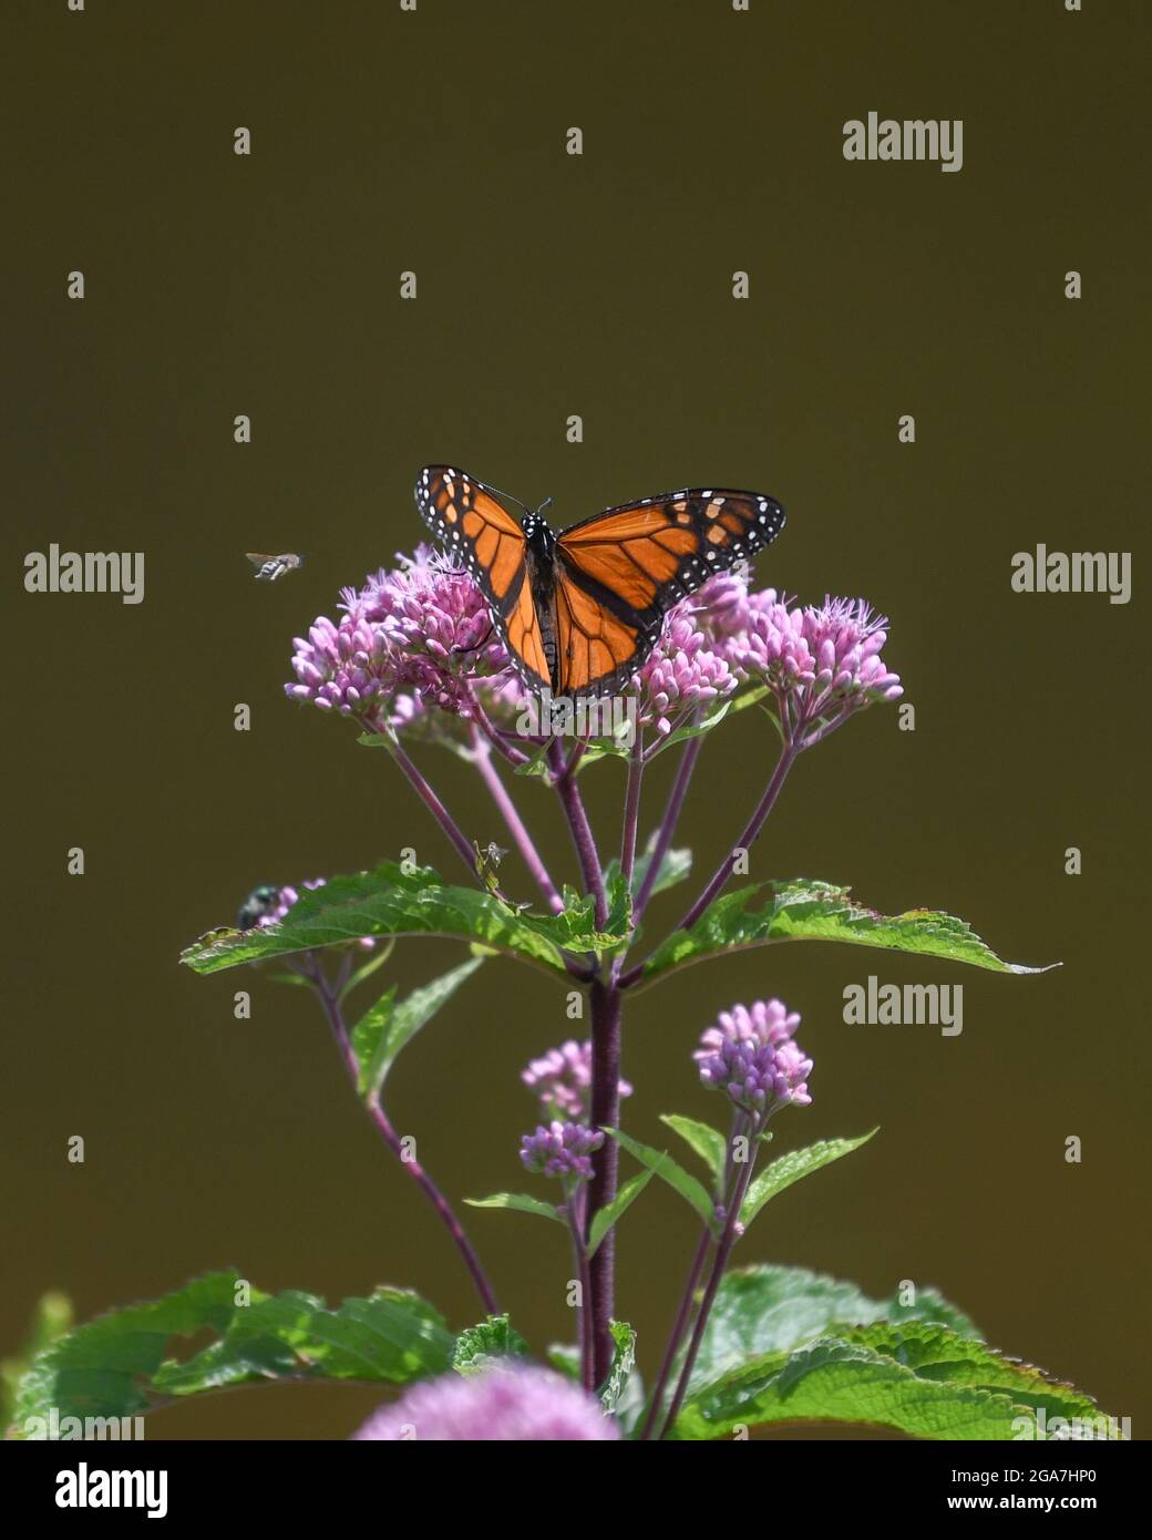
[[[613,984],[593,979],[591,1006],[591,1115],[593,1129],[619,1127],[621,1118],[621,992]],[[619,1146],[605,1135],[594,1157],[594,1175],[588,1184],[588,1223],[616,1197]],[[590,1306],[593,1343],[593,1383],[604,1384],[611,1369],[611,1332],[616,1307],[616,1234],[601,1241],[590,1264]]]

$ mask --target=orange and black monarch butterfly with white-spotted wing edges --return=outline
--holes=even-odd
[[[708,488],[621,504],[556,534],[539,508],[517,524],[494,488],[450,465],[420,471],[416,507],[479,584],[521,679],[553,696],[622,688],[678,599],[784,528],[775,497]]]

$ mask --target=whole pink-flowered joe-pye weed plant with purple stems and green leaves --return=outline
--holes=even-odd
[[[929,1438],[1053,1437],[1053,1428],[1110,1435],[1090,1397],[1001,1355],[935,1289],[873,1300],[804,1269],[733,1267],[776,1194],[876,1132],[770,1155],[770,1141],[792,1144],[793,1126],[815,1115],[807,1110],[813,1061],[792,1004],[738,1003],[704,1026],[693,1058],[715,1092],[718,1126],[675,1113],[662,1120],[695,1169],[627,1130],[631,1087],[621,1075],[621,1047],[628,1003],[695,962],[821,941],[1032,972],[1003,962],[949,915],[884,916],[836,884],[745,876],[748,850],[785,785],[789,805],[799,805],[799,761],[813,750],[849,752],[841,728],[899,698],[886,645],[887,621],[859,599],[798,604],[752,588],[747,568],[732,570],[670,610],[622,693],[624,710],[588,724],[574,702],[553,702],[542,718],[493,633],[481,591],[447,557],[420,547],[343,590],[339,618],[320,618],[296,639],[288,696],[343,719],[382,768],[399,772],[439,825],[451,876],[402,859],[299,889],[259,889],[240,927],[209,932],[182,961],[197,973],[271,964],[277,979],[311,990],[380,1140],[467,1267],[477,1318],[450,1327],[433,1304],[391,1286],[330,1309],[308,1294],[262,1294],[236,1274],[209,1274],[40,1346],[15,1386],[14,1432],[28,1435],[49,1406],[77,1418],[128,1415],[222,1386],[336,1378],[408,1386],[357,1438],[692,1440],[819,1420]],[[727,810],[715,808],[716,847],[699,881],[692,853],[676,844],[678,822],[708,739],[742,711],[762,722],[765,753],[755,764],[770,768],[756,785],[750,765],[742,824],[728,825]],[[477,798],[467,807],[450,808],[434,788],[430,767],[445,750],[476,773]],[[675,770],[653,821],[647,776],[665,753]],[[582,795],[587,776],[619,773],[607,761],[625,770],[613,832],[593,830]],[[574,879],[548,869],[530,833],[547,802],[571,836]],[[488,838],[493,818],[507,849]],[[510,890],[502,864],[510,849],[534,892]],[[692,895],[678,924],[664,936],[645,935],[653,895],[673,887]],[[377,993],[391,949],[408,936],[457,941],[464,956],[408,996],[394,986]],[[481,1254],[499,1243],[499,1221],[476,1214],[470,1234],[464,1204],[440,1190],[387,1110],[397,1055],[465,983],[485,987],[493,955],[542,970],[579,999],[576,1015],[588,1023],[587,1040],[541,1044],[524,1070],[537,1103],[519,1149],[531,1190],[464,1200],[568,1232],[576,1329],[565,1331],[570,1317],[559,1309],[565,1343],[544,1352],[517,1334],[484,1267]],[[376,998],[365,1007],[370,990]],[[631,1061],[628,1069],[642,1073]],[[508,1153],[511,1164],[511,1130]],[[675,1318],[639,1323],[662,1337],[645,1388],[636,1332],[616,1311],[615,1263],[627,1212],[653,1177],[690,1204],[699,1238],[684,1258]],[[208,1348],[172,1355],[172,1338],[203,1327],[214,1332]]]

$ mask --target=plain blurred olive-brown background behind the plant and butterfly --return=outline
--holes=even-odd
[[[944,907],[1007,958],[1064,967],[821,946],[712,962],[628,1007],[628,1124],[662,1141],[659,1112],[715,1115],[699,1030],[779,993],[816,1069],[778,1141],[882,1132],[778,1200],[742,1260],[876,1294],[935,1283],[1141,1437],[1149,42],[1137,0],[5,6],[0,1348],[48,1286],[91,1317],[219,1264],[330,1298],[405,1283],[476,1315],[313,1001],[176,964],[259,881],[405,844],[457,876],[388,762],[282,696],[291,638],[411,550],[416,471],[447,459],[551,494],[561,525],[685,482],[762,488],[789,510],[762,581],[890,614],[916,730],[875,708],[801,762],[753,875]],[[963,171],[846,162],[842,123],[869,109],[963,119]],[[146,551],[145,602],[26,594],[23,556],[52,541]],[[1012,593],[1012,553],[1038,541],[1132,551],[1132,602]],[[256,585],[248,548],[308,562]],[[753,713],[708,742],[685,816],[701,865],[772,747]],[[501,838],[467,767],[425,767],[470,835]],[[619,767],[587,785],[610,844]],[[568,875],[548,795],[517,793]],[[457,958],[413,941],[394,976]],[[869,973],[963,984],[963,1035],[844,1026],[844,986]],[[493,961],[404,1058],[396,1121],[453,1200],[530,1186],[517,1073],[568,1032],[559,984]],[[564,1335],[562,1232],[470,1226],[521,1331]],[[648,1366],[693,1238],[667,1190],[622,1229],[619,1314]],[[249,1391],[149,1437],[342,1437],[376,1400]]]

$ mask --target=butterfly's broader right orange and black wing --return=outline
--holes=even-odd
[[[558,693],[621,688],[673,604],[782,528],[775,497],[708,488],[624,504],[565,530],[556,544]]]

